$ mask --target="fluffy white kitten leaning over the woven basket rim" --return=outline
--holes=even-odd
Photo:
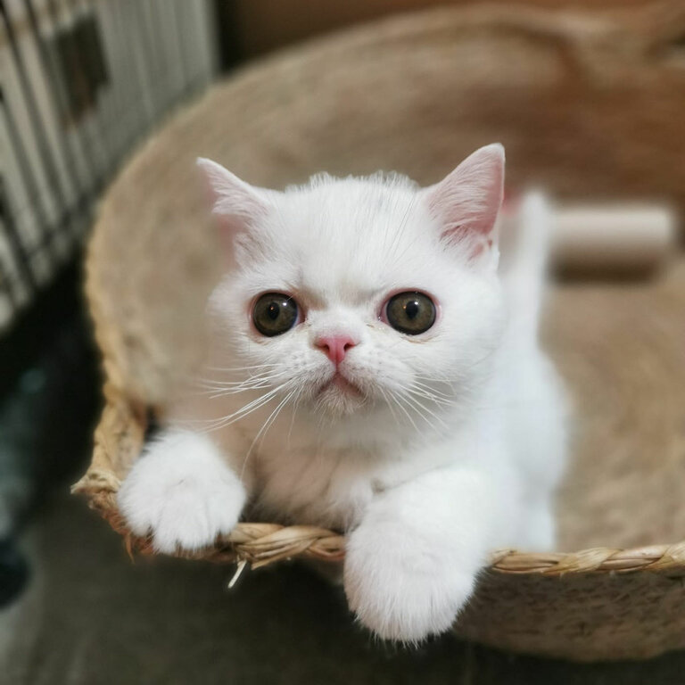
[[[248,498],[342,529],[361,623],[447,630],[489,550],[553,544],[565,438],[536,342],[544,202],[524,201],[499,274],[499,144],[424,189],[318,176],[278,193],[199,164],[227,238],[210,299],[224,371],[133,466],[121,511],[161,551],[209,545]],[[206,430],[182,430],[191,415]]]

